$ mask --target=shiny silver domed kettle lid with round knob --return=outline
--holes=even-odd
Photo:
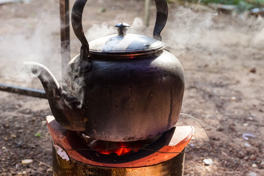
[[[164,44],[157,39],[127,34],[129,24],[115,25],[118,34],[107,35],[89,42],[89,54],[105,54],[115,56],[141,55],[162,51]]]

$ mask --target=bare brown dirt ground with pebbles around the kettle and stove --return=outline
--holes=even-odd
[[[90,0],[86,6],[83,26],[89,29],[88,40],[112,33],[110,26],[122,21],[131,24],[129,32],[151,36],[154,3],[149,28],[141,20],[143,1]],[[102,7],[106,11],[99,13]],[[185,70],[182,113],[199,119],[210,135],[208,145],[186,154],[184,175],[264,175],[263,26],[264,20],[245,14],[169,4],[162,37]],[[25,60],[43,63],[61,80],[59,31],[58,0],[0,5],[0,82],[41,89],[38,79],[18,72]],[[72,28],[70,39],[74,57],[80,43]],[[0,175],[51,175],[49,167],[39,163],[52,165],[52,138],[45,121],[51,115],[48,101],[7,92],[0,95]],[[195,127],[187,150],[206,142],[205,132],[194,120],[180,117],[177,125]],[[256,137],[245,140],[244,133]],[[213,165],[205,166],[206,158]],[[23,159],[34,161],[22,165]]]

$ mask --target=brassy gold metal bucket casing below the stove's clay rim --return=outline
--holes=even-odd
[[[53,176],[182,176],[185,154],[159,164],[137,168],[110,168],[81,163],[70,158],[67,163],[58,160],[56,148],[53,153]],[[183,149],[185,151],[185,148]],[[66,166],[65,166],[66,165]]]

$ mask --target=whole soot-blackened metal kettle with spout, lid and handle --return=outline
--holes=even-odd
[[[180,61],[164,50],[160,33],[166,24],[166,0],[156,0],[153,38],[117,33],[87,42],[77,0],[72,26],[81,52],[65,69],[63,89],[43,65],[26,62],[24,70],[39,77],[51,111],[63,127],[106,141],[137,141],[171,129],[180,116],[185,74]]]

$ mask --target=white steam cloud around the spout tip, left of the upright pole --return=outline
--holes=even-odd
[[[20,19],[20,18],[19,18]],[[49,12],[42,12],[38,19],[21,19],[17,25],[19,33],[3,33],[0,39],[0,81],[9,84],[22,84],[25,87],[40,88],[41,84],[31,85],[35,80],[31,74],[21,72],[22,63],[35,61],[47,66],[60,78],[59,18]],[[36,25],[33,29],[31,26]],[[54,36],[54,33],[58,35]]]

